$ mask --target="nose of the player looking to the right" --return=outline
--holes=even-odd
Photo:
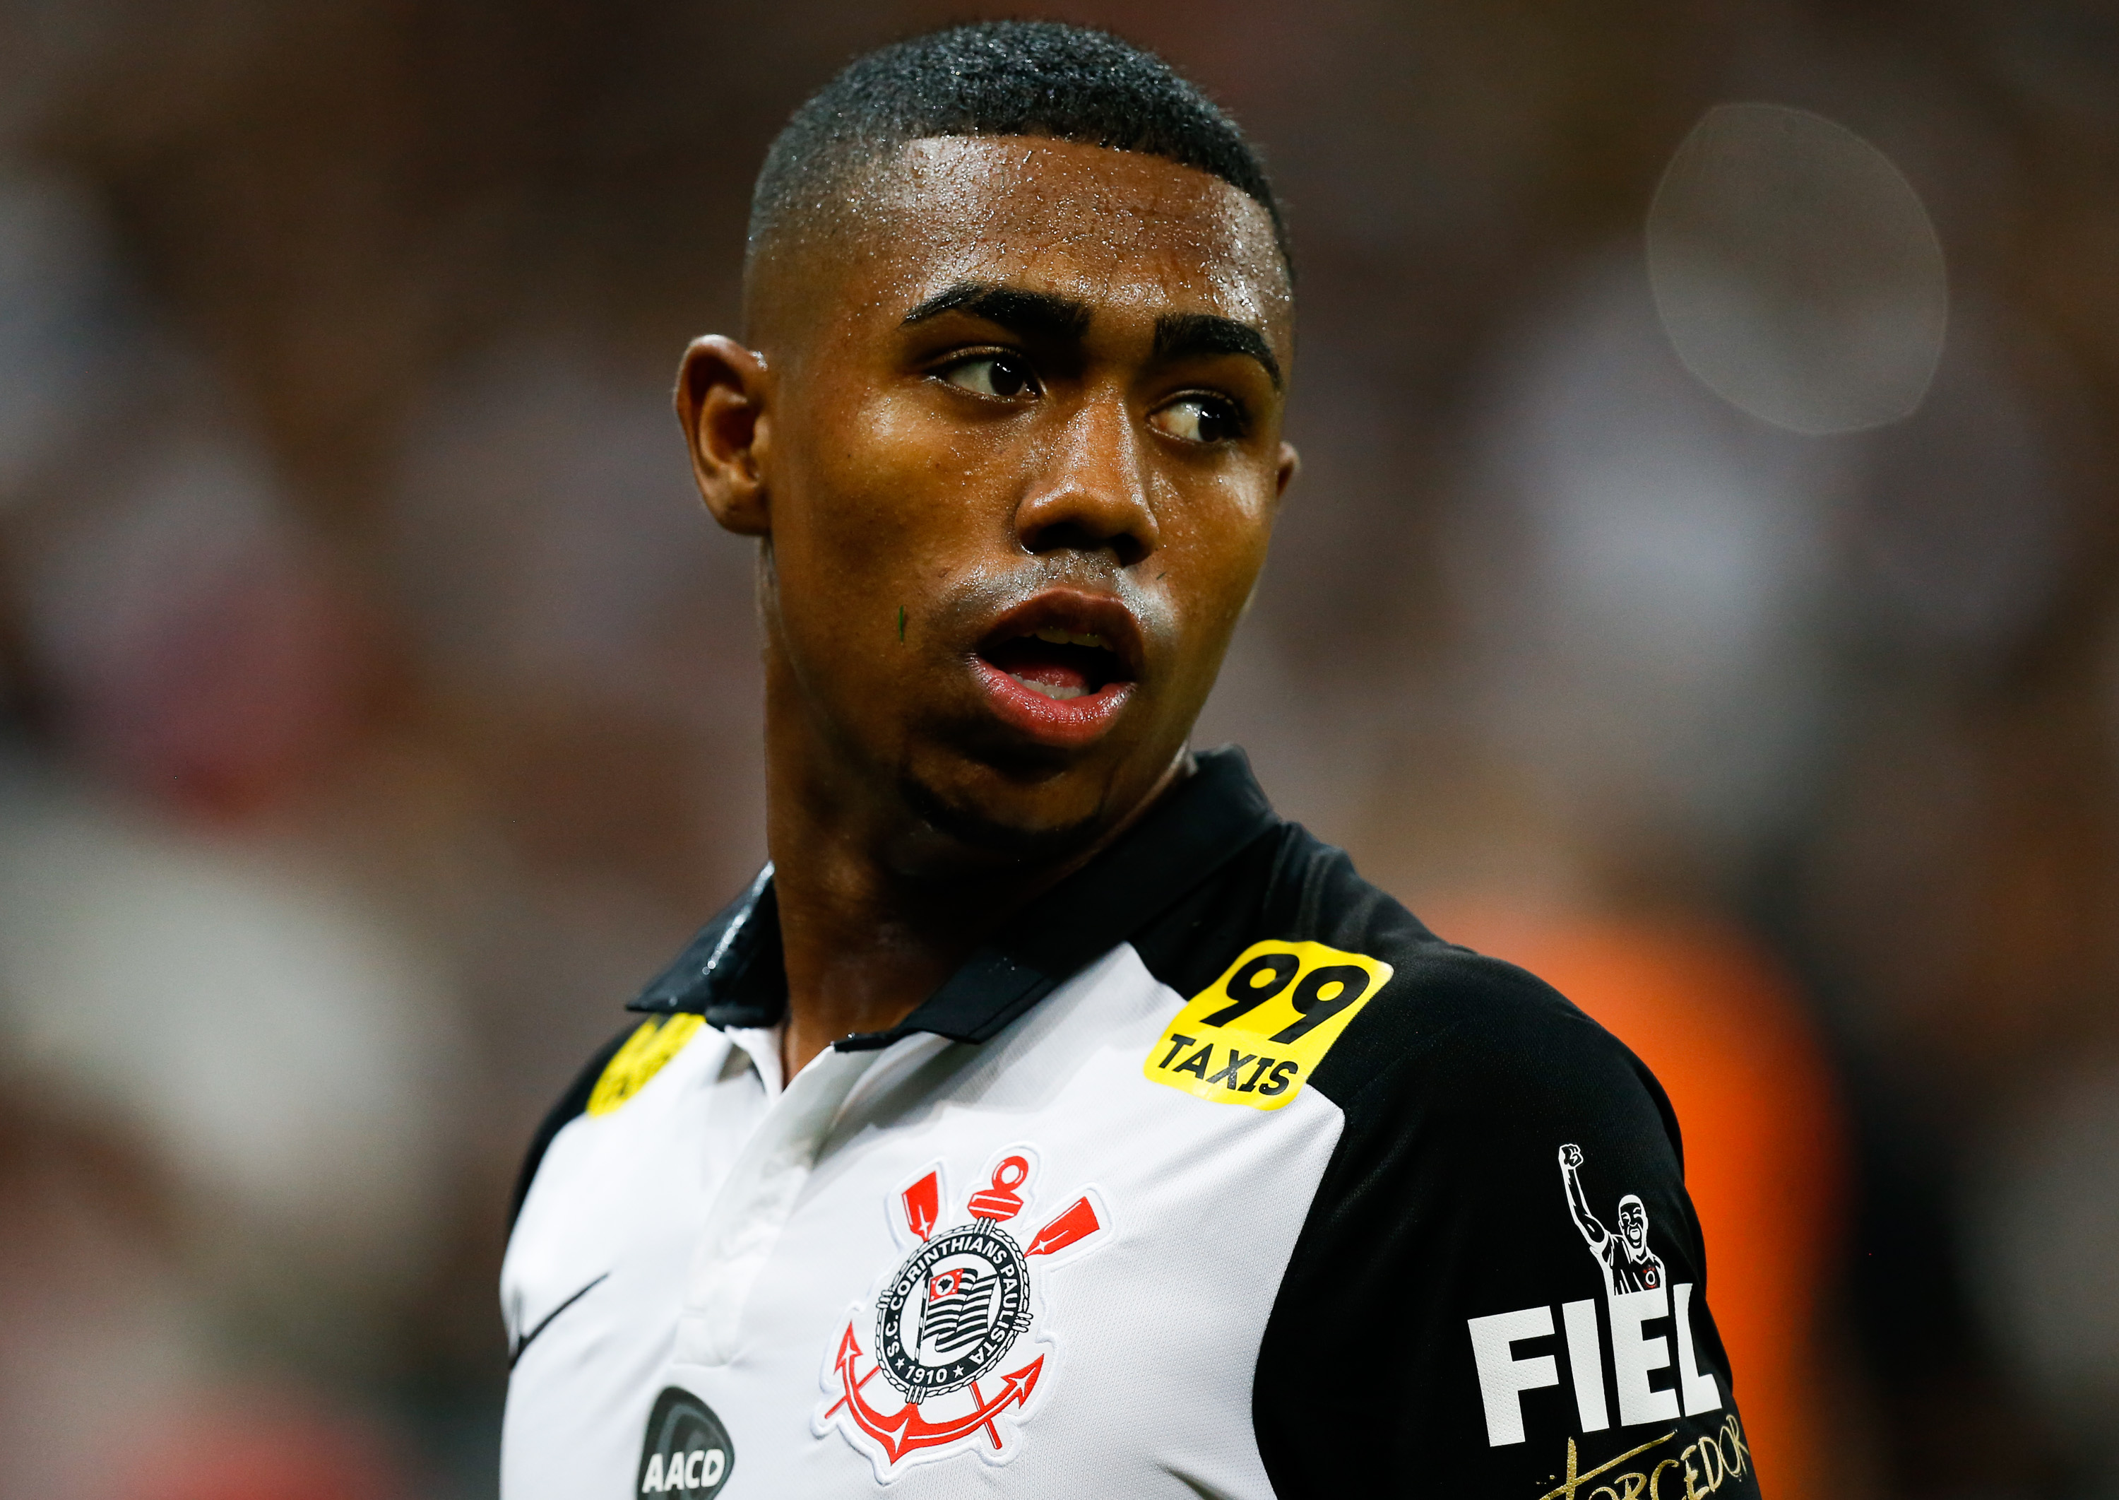
[[[1015,506],[1015,536],[1030,553],[1108,551],[1121,568],[1161,544],[1140,432],[1123,396],[1068,413]]]

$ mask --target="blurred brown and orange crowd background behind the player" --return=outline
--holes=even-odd
[[[1201,742],[1657,1068],[1767,1494],[2119,1496],[2119,11],[1038,13],[1293,203]],[[763,854],[676,356],[962,15],[0,2],[6,1500],[494,1494],[523,1142]]]

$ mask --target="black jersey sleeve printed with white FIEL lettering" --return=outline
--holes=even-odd
[[[1276,1494],[1755,1498],[1655,1078],[1517,968],[1320,936],[1396,972],[1312,1078],[1346,1127],[1259,1352]]]

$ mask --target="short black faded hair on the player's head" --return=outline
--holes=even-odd
[[[1043,136],[1210,172],[1265,208],[1293,273],[1280,199],[1235,121],[1155,53],[1060,21],[951,25],[848,64],[765,153],[750,254],[790,216],[843,201],[848,167],[928,136]]]

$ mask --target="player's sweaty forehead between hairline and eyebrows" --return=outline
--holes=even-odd
[[[869,199],[867,294],[913,307],[956,282],[1007,282],[1098,309],[1212,311],[1293,331],[1286,265],[1261,203],[1132,150],[943,136],[896,150]],[[1276,339],[1278,341],[1278,339]]]

